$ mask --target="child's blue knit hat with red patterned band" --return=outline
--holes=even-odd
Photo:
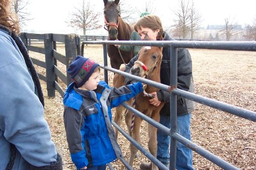
[[[67,73],[70,74],[76,86],[81,87],[93,74],[93,71],[99,64],[89,58],[76,56],[73,62],[68,66]]]

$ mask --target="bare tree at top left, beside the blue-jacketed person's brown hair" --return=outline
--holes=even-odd
[[[27,10],[28,4],[29,0],[12,0],[12,7],[15,14],[18,16],[20,26],[26,26],[26,21],[33,20]]]

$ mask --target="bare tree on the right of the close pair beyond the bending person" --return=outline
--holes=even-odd
[[[195,8],[194,0],[192,0],[192,4],[190,7],[190,33],[191,33],[191,39],[193,39],[195,31],[199,30],[201,27],[201,14],[199,11]]]

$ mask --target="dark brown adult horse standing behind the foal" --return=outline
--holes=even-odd
[[[104,17],[105,26],[108,30],[108,40],[130,40],[133,28],[122,20],[119,16],[118,3],[119,0],[103,0],[104,1]],[[119,69],[124,62],[119,54],[118,48],[115,45],[108,45],[108,56],[112,68]],[[133,51],[120,51],[125,63],[128,63],[134,57]]]

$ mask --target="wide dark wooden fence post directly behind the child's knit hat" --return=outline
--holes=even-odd
[[[66,69],[67,69],[70,63],[73,61],[73,59],[77,55],[76,34],[65,35],[65,52],[66,52],[66,59],[67,59],[67,62],[66,62]],[[70,82],[72,82],[72,79],[70,75],[67,74],[67,85],[69,85]]]

